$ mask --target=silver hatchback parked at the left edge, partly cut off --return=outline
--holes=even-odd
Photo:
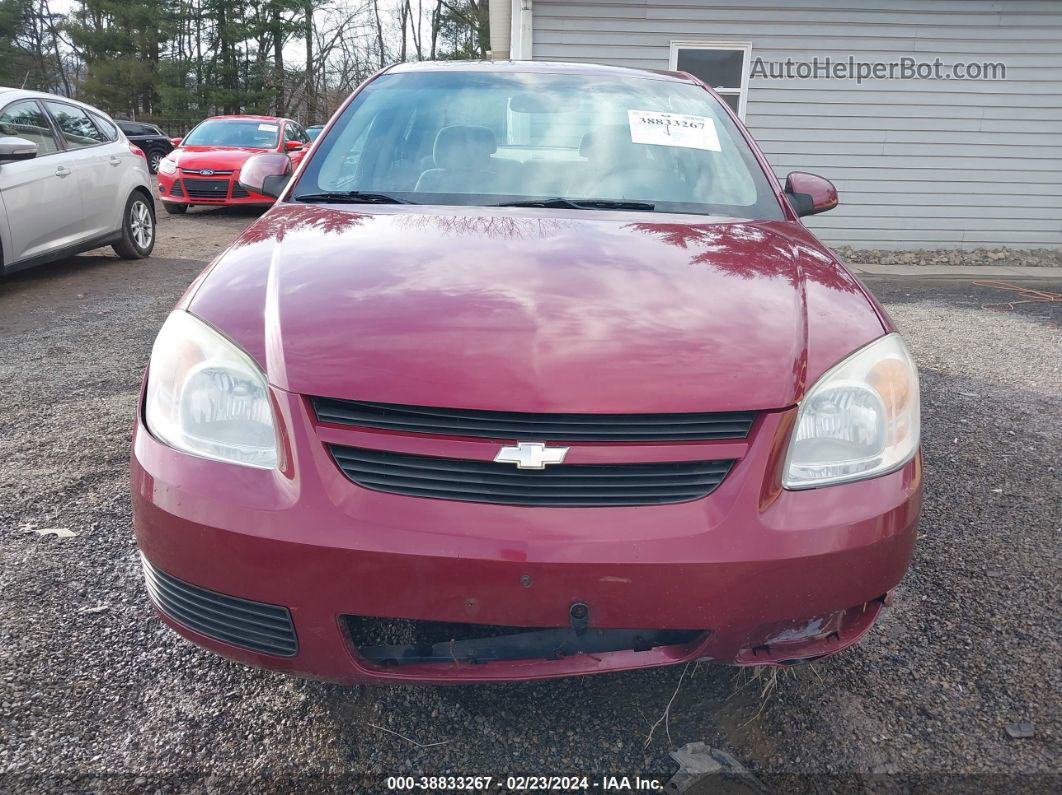
[[[0,87],[0,273],[110,245],[155,246],[143,152],[101,110]]]

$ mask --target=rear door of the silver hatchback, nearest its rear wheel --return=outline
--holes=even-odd
[[[75,158],[71,169],[85,208],[84,223],[88,237],[101,237],[121,225],[127,196],[119,195],[124,165],[122,152],[133,157],[129,146],[100,129],[86,110],[66,102],[46,100],[45,107],[55,121],[63,144]],[[112,128],[113,129],[113,128]]]

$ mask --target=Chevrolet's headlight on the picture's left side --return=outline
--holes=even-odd
[[[144,422],[170,447],[271,469],[276,429],[266,377],[246,353],[176,310],[151,350]]]

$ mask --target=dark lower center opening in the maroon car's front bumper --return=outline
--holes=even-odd
[[[430,662],[486,664],[518,660],[561,660],[580,654],[648,652],[688,645],[703,629],[546,629],[345,616],[350,641],[376,666]]]

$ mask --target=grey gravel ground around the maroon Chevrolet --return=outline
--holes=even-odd
[[[868,280],[922,366],[926,504],[896,604],[858,647],[777,677],[691,667],[341,688],[181,640],[138,572],[126,468],[140,374],[173,301],[252,220],[164,218],[151,260],[82,256],[0,283],[0,790],[667,776],[667,751],[693,741],[777,792],[1060,789],[1062,304]],[[32,532],[46,528],[76,536]],[[1017,721],[1034,736],[1010,739]]]

